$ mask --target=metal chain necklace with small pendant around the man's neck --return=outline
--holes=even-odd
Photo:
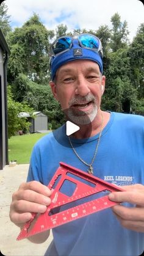
[[[88,174],[92,174],[93,175],[93,162],[96,158],[96,154],[98,153],[98,146],[99,146],[99,142],[100,142],[100,139],[101,139],[101,133],[103,131],[103,122],[104,122],[104,118],[103,118],[103,113],[101,112],[101,116],[102,116],[102,123],[101,123],[101,130],[100,130],[100,133],[99,133],[99,137],[98,137],[98,143],[96,145],[96,149],[95,149],[95,153],[93,155],[93,159],[92,159],[92,162],[90,164],[86,163],[76,152],[75,148],[73,147],[73,144],[71,143],[71,139],[70,139],[70,136],[68,136],[68,139],[69,139],[69,142],[71,144],[71,148],[73,149],[73,152],[76,154],[77,158],[79,158],[79,160],[85,164],[86,166],[89,167],[89,169],[87,169],[87,172]]]

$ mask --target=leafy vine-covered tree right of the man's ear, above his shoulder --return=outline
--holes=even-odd
[[[131,112],[135,109],[137,90],[132,86],[128,49],[119,49],[108,54],[109,68],[105,71],[106,92],[103,109],[117,112]]]

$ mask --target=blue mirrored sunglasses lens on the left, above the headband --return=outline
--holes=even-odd
[[[53,45],[52,51],[54,54],[62,53],[66,49],[69,49],[71,45],[71,37],[59,38]]]

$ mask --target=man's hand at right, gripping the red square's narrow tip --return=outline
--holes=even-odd
[[[134,207],[115,205],[112,207],[113,213],[126,229],[144,232],[144,186],[136,184],[122,188],[126,191],[112,192],[109,194],[109,199],[120,203],[132,203]]]

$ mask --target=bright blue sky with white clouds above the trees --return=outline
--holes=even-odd
[[[35,12],[48,29],[56,29],[63,23],[68,31],[76,28],[97,30],[107,24],[111,28],[110,18],[118,12],[121,21],[126,20],[130,40],[137,32],[143,19],[143,4],[139,0],[6,0],[11,15],[11,26],[20,27]]]

